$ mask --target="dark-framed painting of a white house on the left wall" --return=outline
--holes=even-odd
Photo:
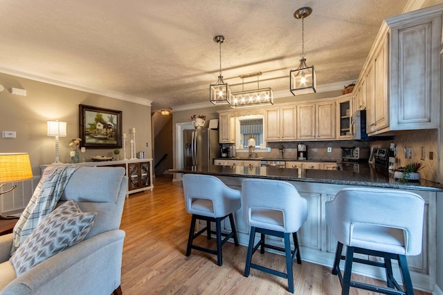
[[[80,104],[80,138],[90,149],[122,147],[122,111]]]

